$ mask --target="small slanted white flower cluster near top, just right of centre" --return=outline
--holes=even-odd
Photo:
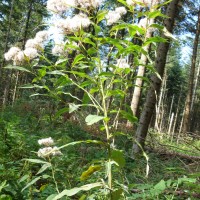
[[[108,14],[105,16],[107,20],[107,25],[110,26],[121,19],[123,15],[126,14],[125,7],[118,7],[114,11],[109,11]]]

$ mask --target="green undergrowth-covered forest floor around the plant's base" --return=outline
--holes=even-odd
[[[125,131],[126,130],[126,131]],[[123,132],[123,134],[122,134]],[[116,131],[115,146],[123,150],[125,167],[120,175],[115,169],[116,184],[128,185],[127,199],[199,199],[200,198],[200,140],[187,136],[179,143],[151,131],[146,144],[146,154],[132,159],[132,134],[121,125]],[[82,126],[79,122],[52,120],[49,115],[40,117],[34,112],[15,107],[1,113],[0,117],[0,199],[46,199],[53,189],[48,178],[36,181],[23,190],[41,168],[41,164],[28,163],[25,159],[39,159],[38,140],[52,137],[56,146],[73,141],[103,140],[95,127]],[[79,144],[63,148],[56,162],[56,179],[62,188],[82,185],[81,174],[91,164],[106,158],[106,151],[96,144]],[[148,176],[146,172],[148,170]],[[45,171],[45,169],[44,169]],[[49,177],[49,172],[45,175]],[[84,181],[93,182],[105,176],[99,171]],[[121,176],[121,178],[120,178]],[[158,189],[159,188],[159,189]],[[3,195],[3,196],[2,196]],[[81,199],[80,196],[72,199]]]

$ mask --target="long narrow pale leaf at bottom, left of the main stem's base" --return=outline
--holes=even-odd
[[[101,187],[102,185],[103,184],[101,182],[97,182],[97,183],[91,183],[91,184],[83,185],[81,187],[76,187],[76,188],[73,188],[71,190],[63,190],[60,194],[55,196],[53,198],[53,200],[60,199],[60,198],[62,198],[64,196],[71,197],[71,196],[77,194],[80,191],[88,191],[88,190],[91,190],[91,189],[93,189],[95,187]]]

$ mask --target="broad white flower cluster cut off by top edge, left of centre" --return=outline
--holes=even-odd
[[[69,8],[77,6],[81,8],[97,8],[102,2],[103,0],[48,0],[47,9],[55,13],[62,13]]]

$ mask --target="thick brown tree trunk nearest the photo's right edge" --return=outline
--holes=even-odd
[[[194,39],[193,53],[192,53],[192,63],[191,63],[191,69],[190,69],[188,93],[186,97],[185,114],[183,118],[183,132],[184,133],[187,133],[190,131],[191,104],[192,104],[193,89],[194,89],[194,74],[195,74],[195,65],[196,65],[196,60],[197,60],[199,36],[200,36],[200,10],[198,12],[198,20],[197,20],[196,35]]]

